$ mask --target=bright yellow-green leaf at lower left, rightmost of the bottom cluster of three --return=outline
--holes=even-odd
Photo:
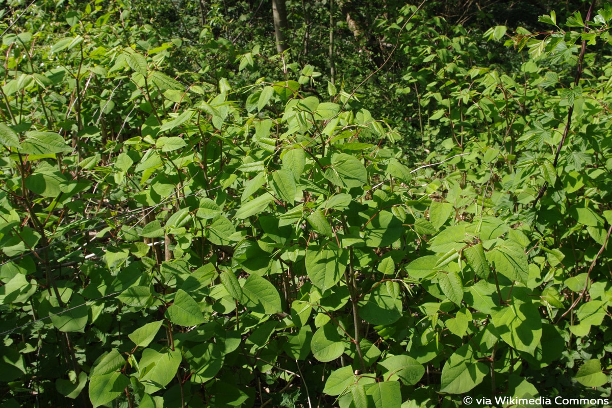
[[[153,349],[144,349],[138,365],[140,366],[140,382],[145,384],[144,392],[152,394],[165,387],[176,377],[176,371],[182,361],[181,351],[168,350],[164,353]]]

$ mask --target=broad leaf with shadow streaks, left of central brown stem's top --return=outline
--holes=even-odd
[[[334,287],[348,265],[348,252],[310,245],[306,251],[306,272],[321,291]]]

